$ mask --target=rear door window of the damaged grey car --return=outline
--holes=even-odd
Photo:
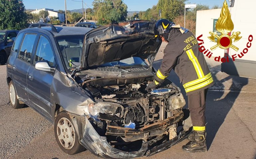
[[[22,44],[21,44],[21,49],[18,58],[30,63],[31,61],[31,56],[32,56],[32,50],[33,46],[35,43],[37,35],[35,34],[26,34]]]

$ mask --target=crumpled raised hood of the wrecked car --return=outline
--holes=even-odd
[[[152,67],[161,45],[154,36],[153,21],[129,21],[95,28],[85,34],[80,69],[141,57]]]

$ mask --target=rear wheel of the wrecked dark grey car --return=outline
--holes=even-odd
[[[25,107],[25,104],[20,104],[17,98],[16,90],[12,80],[9,83],[9,99],[12,108],[20,109]]]

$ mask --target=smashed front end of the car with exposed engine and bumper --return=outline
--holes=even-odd
[[[85,114],[80,142],[87,150],[104,158],[149,156],[190,133],[192,124],[180,89],[167,80],[163,87],[147,92],[153,79],[150,72],[151,76],[137,79],[87,79],[89,71],[76,77],[95,101],[78,106]]]

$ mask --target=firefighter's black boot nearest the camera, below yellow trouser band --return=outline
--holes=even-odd
[[[195,141],[192,141],[189,145],[183,145],[182,149],[186,152],[206,152],[205,136],[205,131],[194,131]]]

